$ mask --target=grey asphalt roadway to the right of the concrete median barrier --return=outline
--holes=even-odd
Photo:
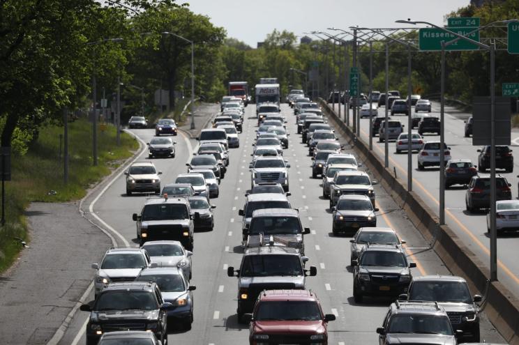
[[[439,117],[439,103],[432,102],[433,112],[430,114]],[[384,107],[378,109],[379,116],[384,115]],[[351,112],[350,112],[351,114]],[[478,165],[479,146],[472,146],[472,137],[465,138],[463,120],[470,114],[462,113],[453,107],[445,107],[445,142],[451,148],[451,156],[456,158],[469,158]],[[405,124],[404,131],[407,132],[407,116],[395,115],[393,119],[400,120]],[[369,118],[361,119],[361,137],[366,142],[369,141]],[[417,129],[413,130],[417,132]],[[512,146],[516,146],[515,139],[519,135],[512,132]],[[425,134],[424,139],[439,140],[438,135]],[[517,146],[516,146],[517,147]],[[511,147],[512,149],[515,147]],[[373,150],[384,159],[384,143],[379,143],[378,136],[373,139]],[[513,154],[517,155],[518,150]],[[407,185],[407,152],[396,153],[395,141],[389,141],[389,166],[391,169],[396,167],[398,178],[405,181]],[[437,167],[426,168],[419,171],[417,167],[416,151],[412,158],[413,190],[417,192],[426,204],[439,214],[439,169]],[[506,173],[504,170],[497,169],[497,174],[504,176],[511,183],[512,197],[518,197],[518,160],[514,161],[514,171]],[[484,173],[479,173],[485,175]],[[490,175],[490,171],[486,173]],[[481,210],[476,213],[468,213],[465,210],[465,187],[454,185],[445,192],[445,221],[456,234],[462,238],[463,242],[469,247],[483,263],[490,267],[490,238],[487,233],[486,212]],[[499,281],[510,289],[516,296],[519,294],[519,263],[516,259],[519,238],[517,233],[506,233],[497,238],[497,275]]]

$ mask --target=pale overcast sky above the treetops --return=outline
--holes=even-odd
[[[177,0],[183,3],[182,0]],[[403,27],[395,20],[421,20],[444,24],[444,15],[467,6],[469,0],[187,0],[194,13],[207,15],[227,36],[251,47],[273,29],[305,32],[349,26]],[[309,35],[310,36],[310,35]],[[315,36],[311,36],[315,38]]]

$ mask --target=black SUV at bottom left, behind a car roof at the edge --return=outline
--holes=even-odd
[[[164,344],[167,309],[171,307],[171,303],[164,302],[154,282],[111,283],[95,301],[80,307],[83,312],[90,312],[87,345],[96,345],[104,333],[118,330],[153,332]]]

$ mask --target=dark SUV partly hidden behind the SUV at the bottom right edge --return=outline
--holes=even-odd
[[[407,294],[400,298],[437,302],[445,309],[452,328],[458,332],[458,344],[479,343],[479,306],[476,302],[481,302],[481,296],[472,296],[467,281],[462,277],[453,275],[413,277]]]

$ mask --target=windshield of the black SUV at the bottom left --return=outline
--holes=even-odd
[[[114,290],[101,293],[93,309],[97,312],[129,309],[156,310],[158,303],[154,293],[150,291]]]

